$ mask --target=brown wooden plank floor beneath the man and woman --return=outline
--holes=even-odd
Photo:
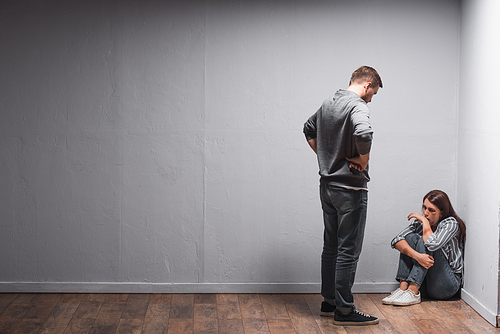
[[[500,333],[462,300],[383,297],[355,295],[380,324],[341,327],[319,316],[319,294],[0,294],[0,333]]]

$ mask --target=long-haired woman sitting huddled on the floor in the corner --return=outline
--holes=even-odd
[[[408,215],[410,225],[391,242],[401,252],[396,280],[399,288],[383,304],[407,306],[421,301],[420,291],[432,299],[449,299],[462,285],[465,224],[445,192],[424,196],[423,215]]]

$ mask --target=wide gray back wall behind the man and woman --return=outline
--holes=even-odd
[[[356,291],[393,288],[427,191],[455,203],[458,0],[0,6],[2,291],[318,292],[302,125],[365,64],[384,88]]]

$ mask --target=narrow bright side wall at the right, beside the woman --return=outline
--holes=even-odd
[[[500,2],[467,0],[462,6],[458,199],[468,226],[462,296],[498,324]]]

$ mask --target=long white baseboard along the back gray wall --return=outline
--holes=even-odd
[[[354,283],[354,293],[389,293],[395,283]],[[319,283],[0,282],[3,293],[320,293]]]

